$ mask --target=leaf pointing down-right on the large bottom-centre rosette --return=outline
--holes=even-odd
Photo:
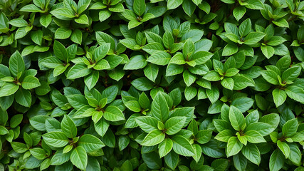
[[[195,155],[192,145],[183,136],[181,135],[174,136],[172,138],[172,141],[173,141],[173,150],[174,152],[177,152],[177,154],[184,156]]]

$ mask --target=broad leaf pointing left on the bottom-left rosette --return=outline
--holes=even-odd
[[[68,144],[68,138],[65,133],[62,132],[50,132],[42,135],[43,140],[45,140],[46,144],[51,145],[53,147],[64,147]]]

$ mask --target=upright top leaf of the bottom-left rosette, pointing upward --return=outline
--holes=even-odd
[[[75,138],[77,135],[76,125],[68,115],[64,115],[63,120],[61,120],[61,130],[68,138]]]

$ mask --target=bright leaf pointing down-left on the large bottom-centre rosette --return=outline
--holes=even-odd
[[[142,140],[141,145],[153,146],[158,145],[164,140],[164,133],[161,130],[152,130],[148,135]]]

